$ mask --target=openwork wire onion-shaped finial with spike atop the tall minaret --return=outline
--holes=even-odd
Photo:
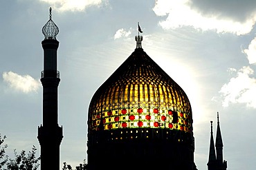
[[[52,8],[49,9],[49,20],[42,28],[44,34],[44,39],[56,39],[57,34],[59,33],[59,28],[52,20]]]

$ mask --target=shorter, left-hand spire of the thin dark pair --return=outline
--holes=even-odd
[[[217,167],[213,132],[212,132],[212,121],[210,121],[210,151],[209,151],[209,160],[207,165],[208,165],[208,170],[215,170]]]

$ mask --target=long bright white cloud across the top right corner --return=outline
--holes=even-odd
[[[246,21],[238,21],[228,17],[221,17],[220,13],[203,14],[192,8],[192,0],[157,0],[153,10],[157,16],[167,16],[159,24],[163,29],[175,29],[182,26],[192,26],[201,30],[216,30],[218,33],[247,34],[253,29],[256,15]]]

